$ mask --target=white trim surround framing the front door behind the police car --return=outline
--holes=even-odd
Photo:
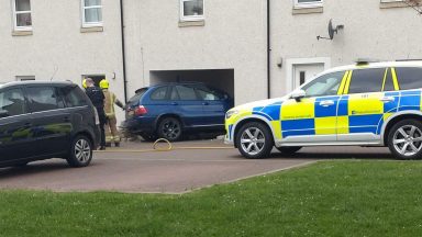
[[[286,94],[290,93],[293,89],[293,68],[297,65],[312,65],[323,64],[324,71],[331,68],[331,58],[329,57],[314,57],[314,58],[289,58],[286,59]],[[312,80],[312,79],[311,79]],[[311,81],[310,80],[310,81]]]

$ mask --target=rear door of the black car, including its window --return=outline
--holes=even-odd
[[[70,142],[70,113],[55,87],[31,86],[26,89],[33,115],[36,156],[63,155]]]

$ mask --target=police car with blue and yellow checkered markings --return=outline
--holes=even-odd
[[[388,146],[399,159],[422,158],[422,60],[358,61],[318,75],[290,94],[227,111],[225,142],[246,158],[275,146]]]

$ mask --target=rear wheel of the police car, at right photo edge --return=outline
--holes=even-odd
[[[399,159],[422,159],[422,123],[403,120],[388,134],[388,148]]]

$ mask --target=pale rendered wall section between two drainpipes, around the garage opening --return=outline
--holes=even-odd
[[[266,1],[206,0],[203,26],[179,26],[179,0],[125,2],[130,93],[151,70],[234,69],[236,103],[266,98]]]

